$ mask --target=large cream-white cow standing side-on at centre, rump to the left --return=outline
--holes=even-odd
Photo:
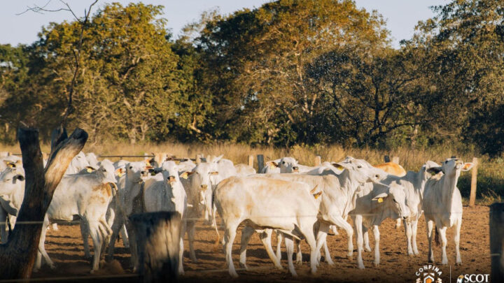
[[[305,238],[311,249],[311,273],[316,273],[314,225],[318,205],[309,191],[305,183],[265,177],[229,177],[217,185],[214,201],[225,226],[225,256],[232,277],[238,276],[232,262],[232,243],[244,221],[254,229],[276,228],[286,235]],[[261,236],[269,258],[281,269],[268,239]]]

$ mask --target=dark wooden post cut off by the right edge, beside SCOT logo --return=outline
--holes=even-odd
[[[504,203],[490,205],[490,258],[489,282],[504,282]]]

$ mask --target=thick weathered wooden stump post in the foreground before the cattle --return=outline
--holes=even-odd
[[[181,215],[148,212],[130,216],[137,237],[139,275],[143,282],[172,282],[179,276]]]

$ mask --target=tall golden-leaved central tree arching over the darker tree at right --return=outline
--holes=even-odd
[[[196,43],[218,108],[214,118],[223,125],[214,132],[251,143],[285,144],[282,132],[316,142],[311,128],[320,96],[307,87],[305,66],[352,42],[386,45],[383,25],[353,1],[333,0],[273,1],[209,20]]]

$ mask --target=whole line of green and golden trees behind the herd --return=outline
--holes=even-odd
[[[277,0],[206,12],[174,39],[162,6],[111,3],[83,34],[69,122],[91,141],[216,140],[395,147],[462,140],[503,152],[503,3],[453,0],[391,48],[377,11]],[[78,22],[0,46],[3,141],[48,138],[73,75]]]

